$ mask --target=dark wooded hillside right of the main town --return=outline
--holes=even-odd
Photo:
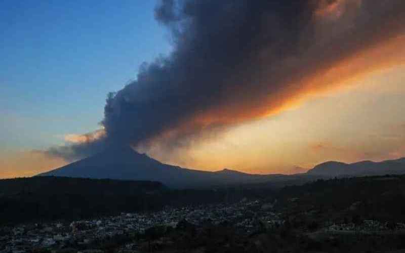
[[[278,204],[299,219],[320,223],[380,220],[405,222],[405,176],[386,175],[317,180],[287,186],[278,194]],[[311,215],[310,215],[311,214]]]

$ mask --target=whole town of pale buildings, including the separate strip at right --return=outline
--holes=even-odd
[[[77,221],[21,224],[0,228],[0,252],[105,252],[114,242],[114,252],[150,250],[153,233],[170,229],[202,229],[207,224],[231,224],[236,233],[249,236],[260,230],[271,230],[289,223],[277,213],[276,200],[242,199],[235,203],[217,203],[185,207],[165,207],[159,212],[121,213],[117,216]],[[360,223],[322,224],[317,233],[384,233],[403,231],[403,223],[365,220]],[[307,231],[308,232],[308,231]],[[313,232],[313,231],[312,231]],[[160,239],[154,243],[172,243]],[[104,246],[103,246],[104,245]],[[149,250],[148,250],[149,248]]]

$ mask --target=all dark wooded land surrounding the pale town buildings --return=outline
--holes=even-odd
[[[57,177],[0,180],[0,233],[5,223],[77,221],[117,212],[148,212],[165,205],[206,204],[205,211],[198,212],[207,218],[204,223],[179,217],[175,228],[158,224],[144,234],[124,234],[90,245],[73,241],[68,244],[73,247],[70,251],[59,248],[56,252],[112,251],[129,242],[136,242],[145,252],[151,248],[153,252],[402,252],[392,250],[405,248],[405,176],[317,180],[278,190],[263,186],[173,190],[154,182]],[[234,201],[238,202],[233,207],[228,204]],[[207,204],[213,202],[225,205],[211,209]],[[225,214],[237,211],[240,216],[229,219],[224,206]],[[210,222],[210,214],[223,217],[224,222]],[[282,222],[269,224],[269,214],[277,214],[276,220]],[[246,221],[252,226],[240,232],[240,224]],[[3,232],[13,233],[12,227],[4,228]],[[94,231],[88,238],[98,236]],[[76,238],[83,241],[80,234]]]

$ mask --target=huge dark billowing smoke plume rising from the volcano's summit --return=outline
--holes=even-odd
[[[170,148],[271,115],[383,64],[350,65],[401,36],[404,13],[403,0],[165,0],[155,17],[170,31],[170,56],[108,95],[105,135],[50,152],[75,159],[108,145]]]

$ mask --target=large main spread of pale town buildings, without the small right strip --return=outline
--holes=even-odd
[[[228,222],[247,233],[254,230],[259,223],[262,226],[275,226],[282,222],[279,216],[272,212],[271,203],[259,200],[244,199],[233,204],[167,207],[153,213],[125,213],[91,220],[3,227],[0,228],[0,252],[22,253],[38,248],[87,248],[86,245],[114,236],[133,235],[135,238],[135,235],[142,234],[153,226],[175,228],[177,223],[184,219],[195,226],[207,222],[213,225]]]

